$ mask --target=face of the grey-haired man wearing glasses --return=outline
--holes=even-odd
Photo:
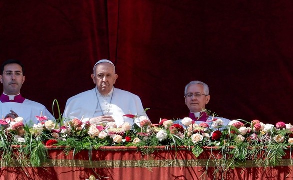
[[[201,84],[191,84],[186,91],[185,104],[190,112],[200,112],[205,109],[210,101],[210,96],[205,94],[204,86]]]

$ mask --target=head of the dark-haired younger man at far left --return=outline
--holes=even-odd
[[[20,93],[25,76],[22,74],[22,67],[19,64],[7,64],[4,67],[0,81],[3,84],[3,91],[7,95],[17,95]]]

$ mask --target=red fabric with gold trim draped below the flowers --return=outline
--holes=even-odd
[[[189,150],[157,149],[153,154],[142,155],[131,147],[105,147],[101,150],[82,150],[73,155],[73,151],[49,149],[49,160],[41,167],[11,166],[0,169],[0,179],[292,179],[293,167],[290,158],[284,157],[282,165],[264,167],[250,166],[250,160],[244,167],[223,170],[216,168],[220,158],[219,151],[205,150],[196,158]],[[67,154],[67,155],[65,155]],[[257,162],[256,162],[257,163]],[[260,163],[260,162],[259,162]],[[207,165],[208,164],[208,165]],[[213,164],[213,165],[212,165]],[[252,163],[254,164],[254,163]],[[218,164],[219,166],[219,164]]]

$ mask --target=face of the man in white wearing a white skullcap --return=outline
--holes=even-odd
[[[93,82],[96,84],[100,94],[108,94],[118,78],[115,74],[114,66],[108,62],[96,65],[95,74],[91,74]]]

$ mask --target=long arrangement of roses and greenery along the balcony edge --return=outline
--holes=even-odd
[[[158,124],[153,124],[146,116],[124,116],[132,118],[133,124],[125,122],[117,126],[108,122],[96,125],[82,123],[80,119],[53,121],[36,116],[39,122],[28,127],[21,117],[2,119],[2,163],[9,163],[14,158],[18,163],[26,160],[32,166],[39,166],[47,157],[45,146],[64,146],[67,150],[74,149],[74,153],[102,146],[136,146],[143,154],[154,152],[156,146],[184,147],[196,157],[203,152],[203,146],[208,146],[220,150],[225,159],[217,169],[227,170],[247,159],[259,159],[259,163],[266,166],[278,165],[285,155],[284,150],[293,146],[293,126],[284,122],[273,125],[238,119],[224,126],[221,118],[213,116],[211,121],[201,123],[184,118],[180,123],[161,119]],[[15,148],[17,155],[13,153]]]

